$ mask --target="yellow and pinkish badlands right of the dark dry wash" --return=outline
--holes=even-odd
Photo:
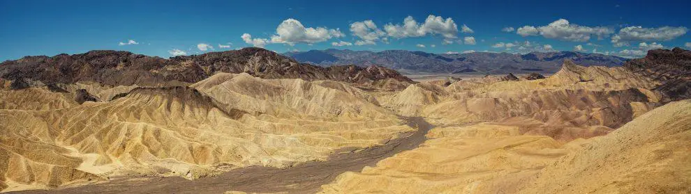
[[[648,112],[660,106],[656,84],[567,61],[547,79],[380,95],[438,127],[419,148],[345,172],[320,193],[688,193],[691,101]]]

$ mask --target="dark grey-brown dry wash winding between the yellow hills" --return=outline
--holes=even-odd
[[[360,172],[365,166],[374,166],[382,159],[422,144],[425,134],[433,126],[422,118],[406,120],[408,125],[417,126],[418,130],[404,134],[403,138],[389,140],[385,145],[368,147],[359,152],[334,154],[327,161],[309,162],[290,168],[251,166],[192,181],[181,177],[124,178],[73,188],[16,193],[316,193],[320,186],[334,181],[343,172]]]

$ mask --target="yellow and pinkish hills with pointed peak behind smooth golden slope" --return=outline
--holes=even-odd
[[[657,82],[624,67],[582,67],[565,61],[547,79],[466,79],[447,87],[417,83],[379,94],[382,107],[438,125],[499,122],[521,134],[560,141],[601,136],[660,105]]]

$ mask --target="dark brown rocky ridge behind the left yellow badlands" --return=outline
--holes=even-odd
[[[218,72],[245,72],[265,79],[331,79],[360,83],[390,78],[412,82],[394,70],[377,65],[319,67],[254,47],[169,59],[128,51],[89,51],[52,57],[26,56],[0,63],[0,78],[13,80],[15,88],[28,86],[29,81],[45,84],[95,81],[110,86],[184,85]]]

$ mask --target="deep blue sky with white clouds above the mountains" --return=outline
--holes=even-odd
[[[94,49],[165,58],[253,45],[281,53],[576,49],[638,57],[691,47],[689,7],[691,1],[0,1],[0,61]],[[409,16],[416,23],[406,26]],[[513,30],[502,31],[507,27]]]

